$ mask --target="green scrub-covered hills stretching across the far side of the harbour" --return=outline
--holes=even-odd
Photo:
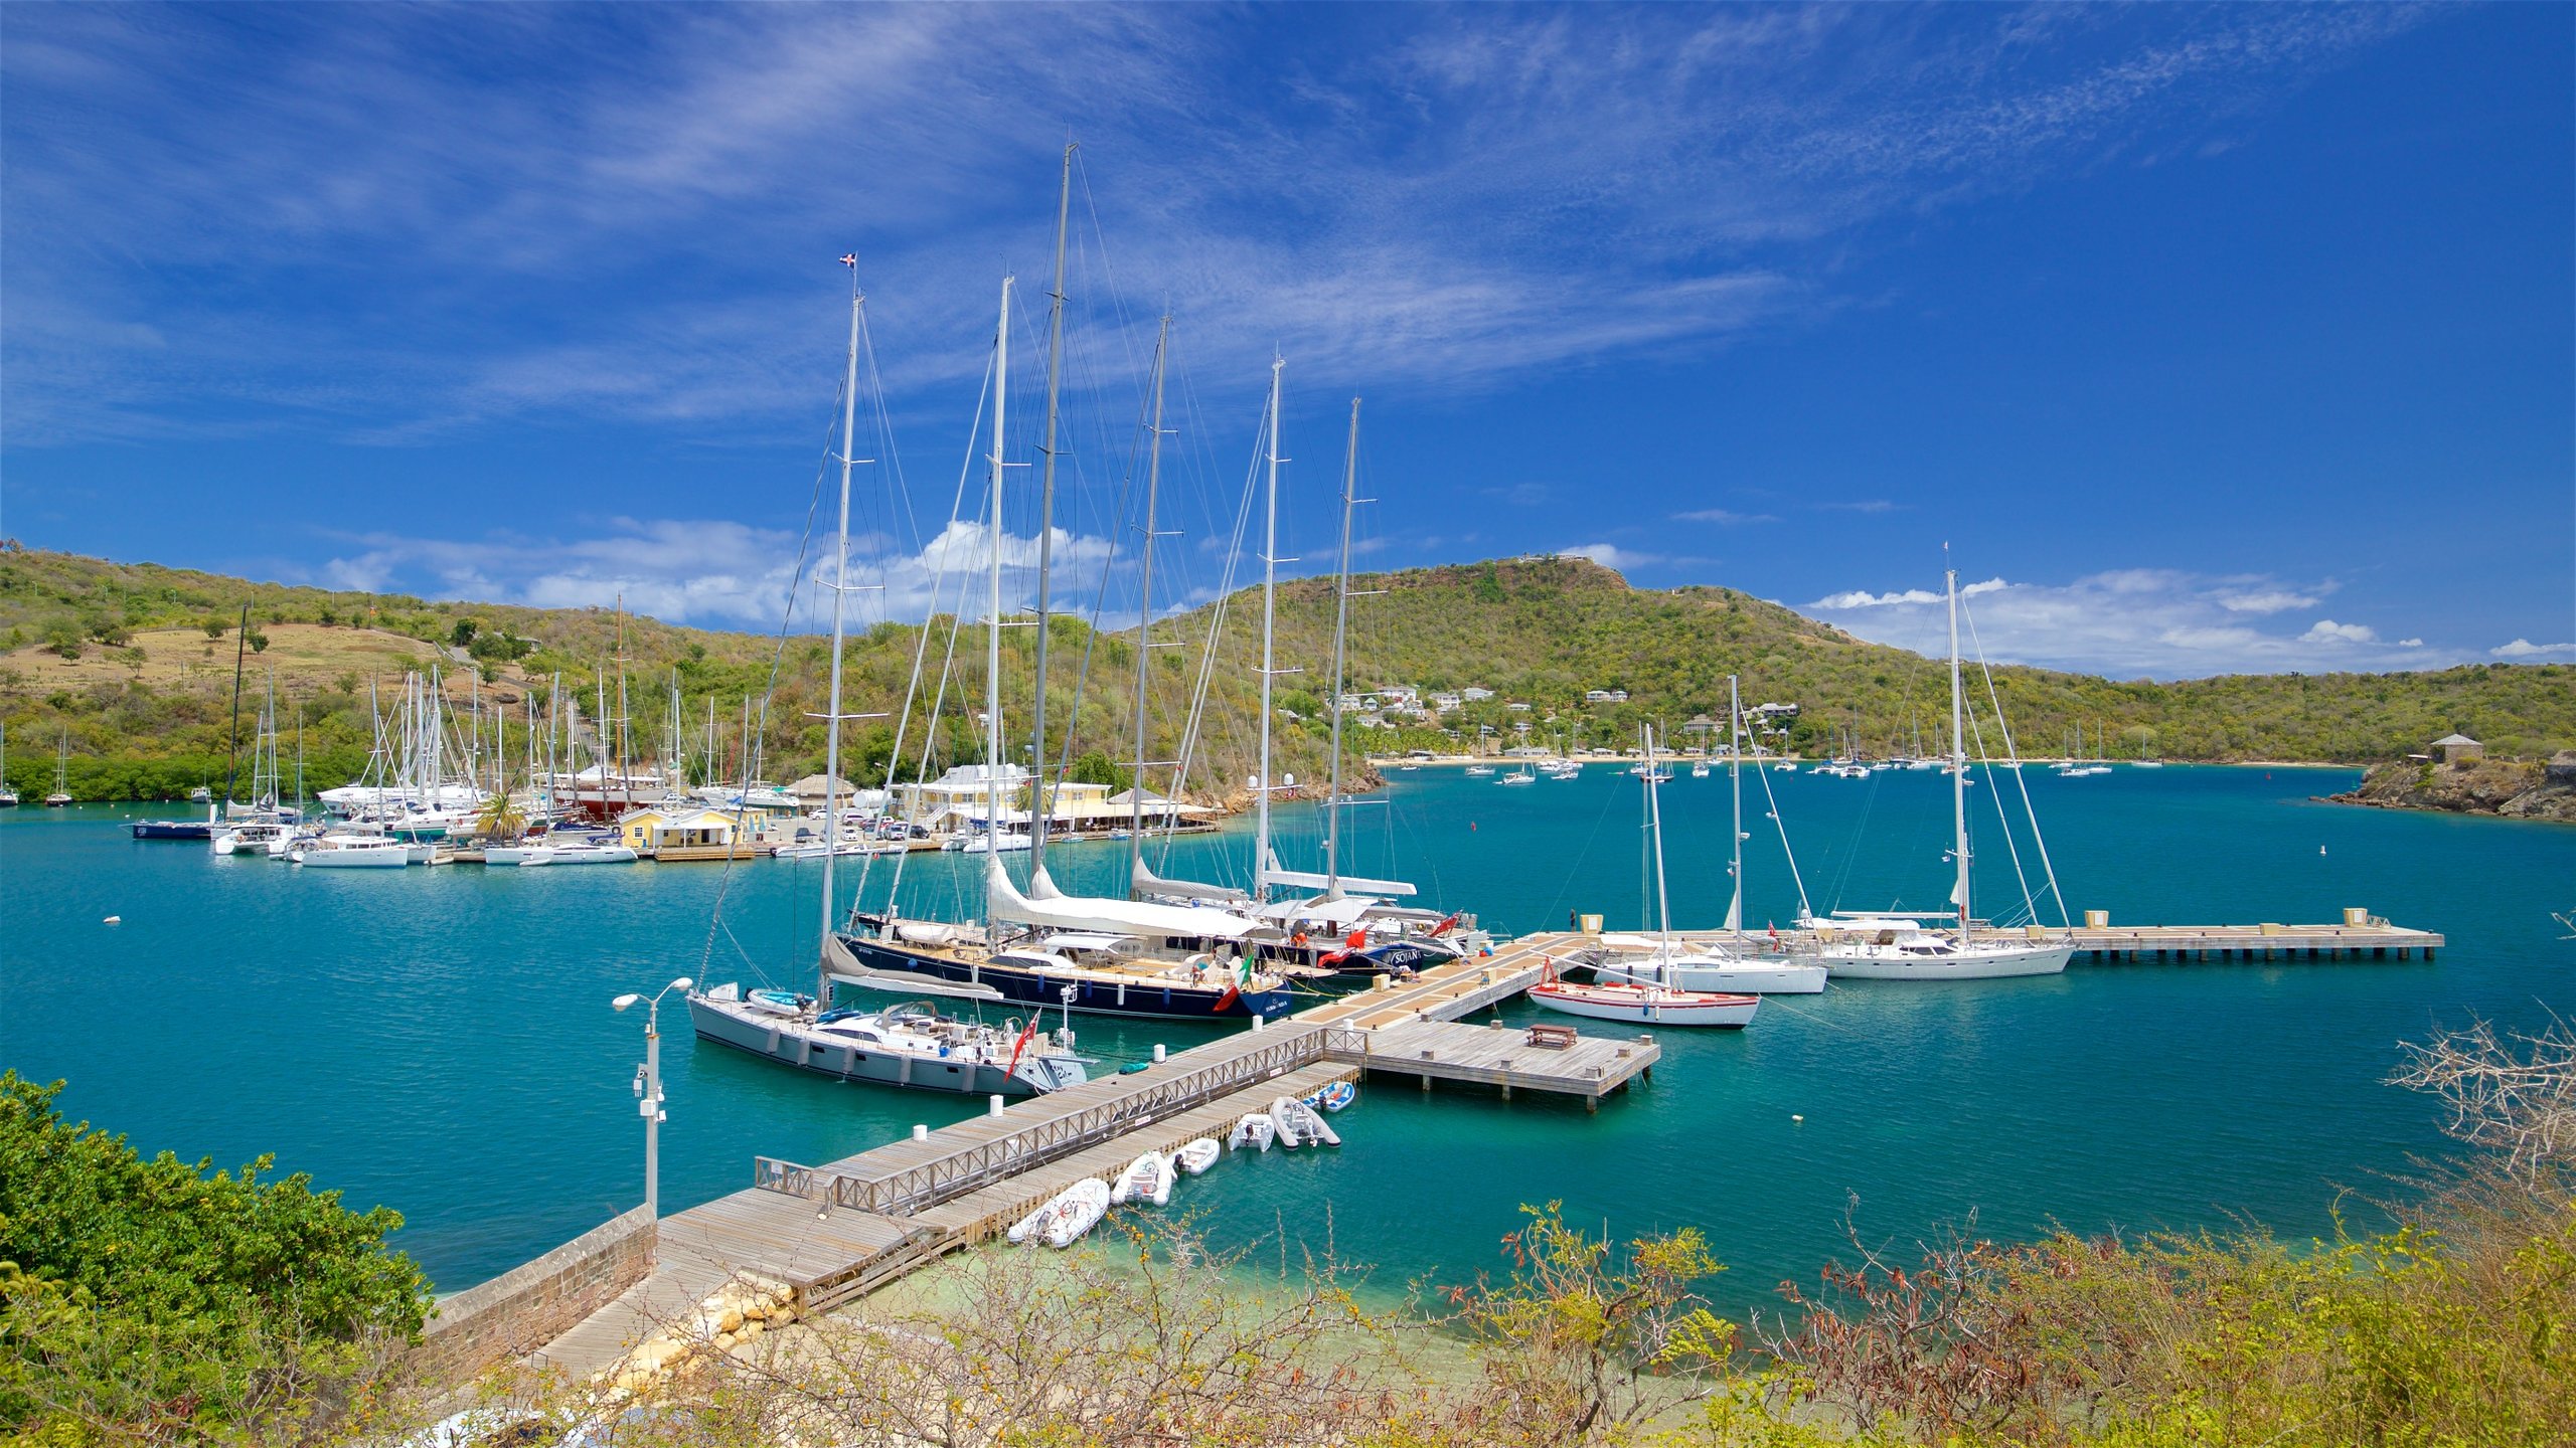
[[[1582,559],[1512,559],[1406,569],[1352,580],[1370,598],[1352,600],[1352,683],[1448,691],[1481,685],[1494,698],[1443,719],[1463,739],[1479,727],[1512,742],[1530,724],[1535,742],[1574,737],[1628,745],[1641,721],[1680,729],[1695,714],[1723,716],[1726,675],[1741,675],[1747,703],[1793,701],[1801,719],[1785,745],[1819,752],[1837,732],[1857,729],[1862,747],[1906,747],[1919,727],[1927,745],[1947,714],[1945,665],[1865,644],[1850,634],[1726,587],[1636,590],[1615,572]],[[1249,603],[1249,605],[1247,605]],[[822,711],[829,647],[793,634],[680,629],[605,608],[513,608],[430,603],[407,595],[337,593],[245,582],[157,564],[113,564],[75,554],[0,551],[0,719],[8,721],[8,778],[21,791],[52,788],[54,745],[70,734],[72,794],[80,799],[157,799],[196,783],[222,783],[227,765],[232,654],[240,611],[250,608],[252,698],[276,672],[281,719],[304,719],[307,781],[340,783],[366,765],[368,683],[392,685],[404,667],[443,662],[448,693],[461,703],[477,691],[484,709],[513,716],[510,752],[526,696],[562,675],[592,711],[603,675],[611,696],[623,672],[626,716],[652,752],[670,683],[683,716],[703,729],[706,701],[732,757],[742,701],[770,698],[762,773],[799,778],[822,765]],[[1278,770],[1321,778],[1324,672],[1332,657],[1332,580],[1280,587],[1278,654],[1303,675],[1280,680]],[[1198,675],[1211,608],[1157,626],[1157,678],[1149,691],[1149,757],[1180,750],[1190,683]],[[1257,598],[1236,595],[1211,683],[1203,745],[1190,778],[1195,796],[1242,791],[1257,747],[1255,662],[1249,629]],[[904,732],[909,776],[951,760],[981,757],[976,711],[984,696],[981,647],[969,626],[945,675],[945,709],[925,729],[930,696],[940,693],[951,618],[933,618],[930,670]],[[1066,737],[1077,752],[1128,757],[1133,732],[1133,629],[1092,634],[1079,618],[1056,618],[1048,693],[1051,750]],[[850,711],[884,721],[848,734],[848,776],[881,781],[894,747],[922,626],[886,624],[853,636],[845,654]],[[1002,716],[1025,747],[1030,652],[1036,634],[1005,634]],[[616,662],[623,657],[623,667]],[[773,657],[778,662],[770,693]],[[1625,703],[1587,706],[1595,688],[1628,691]],[[2115,757],[2169,760],[2321,760],[2367,763],[2419,750],[2452,729],[2476,734],[2499,755],[2548,755],[2576,745],[2576,667],[2468,665],[2398,675],[2228,675],[2184,683],[2115,683],[2092,675],[2002,667],[1996,688],[2025,752],[2053,752],[2084,729],[2107,734]],[[1510,711],[1510,701],[1530,703]],[[1288,719],[1293,714],[1296,719]],[[1440,729],[1352,729],[1350,747],[1453,750]],[[1989,734],[1989,747],[1999,739]],[[701,750],[703,752],[703,750]],[[729,776],[737,765],[726,763]],[[703,760],[698,763],[703,776]],[[1157,773],[1162,786],[1164,776]]]

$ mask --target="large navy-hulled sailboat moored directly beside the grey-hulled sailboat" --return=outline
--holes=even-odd
[[[1069,186],[1069,180],[1066,180]],[[1059,211],[1061,232],[1061,211]],[[1059,247],[1061,250],[1061,247]],[[1007,863],[994,848],[1002,835],[1005,788],[1010,773],[1002,768],[1002,497],[1005,497],[1005,407],[1010,379],[1010,296],[1012,278],[1002,281],[1002,322],[994,330],[994,420],[989,453],[992,515],[989,546],[989,616],[984,621],[984,925],[956,925],[945,920],[902,920],[896,915],[868,917],[858,925],[871,933],[824,933],[827,974],[871,989],[917,989],[922,995],[956,995],[969,1000],[1018,1002],[1033,1010],[1066,1007],[1100,1015],[1154,1015],[1154,1018],[1275,1018],[1288,1010],[1288,989],[1278,974],[1255,964],[1252,935],[1260,922],[1229,910],[1206,904],[1159,904],[1136,899],[1066,897],[1046,873],[1043,835],[1038,827],[1048,804],[1046,776],[1030,781],[1030,868],[1028,889],[1012,884]],[[1056,286],[1061,307],[1064,286]],[[1159,371],[1157,371],[1159,386]],[[1273,368],[1273,405],[1278,399],[1278,371]],[[1278,443],[1273,423],[1273,469]],[[1041,518],[1041,536],[1048,523]],[[1041,554],[1041,575],[1046,572]],[[1043,598],[1041,582],[1041,598]],[[1043,629],[1041,629],[1043,636]],[[1041,714],[1043,721],[1043,714]],[[1043,724],[1041,724],[1043,729]],[[1041,734],[1043,739],[1043,734]],[[1046,760],[1043,747],[1033,760]],[[829,855],[824,855],[829,868]],[[837,966],[837,971],[835,971]]]

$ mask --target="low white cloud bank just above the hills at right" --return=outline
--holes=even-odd
[[[2380,639],[2367,624],[2318,618],[2306,631],[2262,626],[2277,611],[2239,608],[2246,598],[2331,593],[2324,582],[2202,577],[2182,569],[2105,569],[2063,585],[1984,580],[1968,642],[1996,662],[2027,662],[2115,678],[2202,678],[2285,670],[2421,670],[2463,662],[2463,649],[2424,639]],[[1844,590],[1806,613],[1880,644],[1924,654],[1947,649],[1942,595],[1929,587]]]

